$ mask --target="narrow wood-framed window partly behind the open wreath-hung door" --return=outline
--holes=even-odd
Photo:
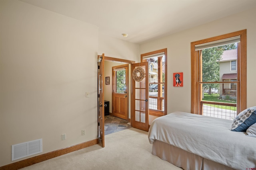
[[[167,49],[141,55],[141,62],[149,65],[149,114],[162,116],[167,114]]]

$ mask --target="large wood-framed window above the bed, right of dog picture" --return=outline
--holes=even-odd
[[[227,66],[230,66],[230,64],[226,64],[225,66],[226,61],[224,61],[223,58],[218,57],[215,60],[216,62],[214,61],[212,63],[214,66],[212,64],[208,65],[212,70],[207,70],[205,66],[207,66],[210,61],[206,61],[208,58],[204,59],[204,56],[206,56],[206,52],[212,53],[212,51],[206,50],[206,52],[204,52],[204,49],[211,49],[232,43],[236,43],[237,45],[237,50],[235,52],[237,61],[233,62],[237,65],[236,73],[223,71],[227,71],[227,69],[221,70],[221,67],[228,68]],[[216,53],[212,53],[210,56],[214,54]],[[232,61],[234,61],[234,59]],[[236,65],[233,66],[233,68],[236,67]],[[215,73],[212,74],[212,72]],[[208,79],[204,78],[205,75],[207,75]],[[214,90],[212,90],[212,88]],[[215,88],[219,89],[215,90]],[[227,100],[228,102],[224,102],[224,100],[207,101],[206,97],[213,96],[212,94],[215,92],[219,93],[216,94],[216,96],[228,96],[224,99],[229,99]],[[235,98],[236,101],[230,102],[232,101],[232,98]],[[232,107],[234,111],[231,111]],[[230,110],[230,113],[219,113],[219,111],[215,113],[218,109]],[[244,109],[246,109],[246,30],[192,42],[191,113],[224,119],[234,119],[234,117]]]

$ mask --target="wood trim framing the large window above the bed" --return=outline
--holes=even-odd
[[[233,33],[228,33],[208,39],[203,39],[200,41],[195,41],[191,43],[191,113],[199,114],[200,113],[200,96],[199,92],[199,80],[200,80],[200,66],[197,57],[199,57],[199,52],[195,51],[195,45],[209,43],[212,41],[217,41],[220,39],[227,39],[230,37],[236,37],[240,35],[240,43],[238,43],[237,53],[240,54],[240,57],[237,59],[237,94],[239,94],[239,98],[237,98],[237,113],[247,108],[247,40],[246,40],[246,29],[241,31],[236,31]],[[202,61],[202,60],[201,60]],[[240,69],[242,68],[242,69]],[[202,84],[201,84],[202,85]],[[202,88],[202,87],[201,87]],[[201,97],[202,98],[202,97]]]

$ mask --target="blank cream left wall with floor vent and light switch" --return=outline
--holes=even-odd
[[[1,0],[0,16],[0,166],[22,160],[14,144],[97,139],[98,27],[17,0]]]

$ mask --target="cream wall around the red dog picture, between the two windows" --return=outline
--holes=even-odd
[[[247,29],[247,107],[256,106],[256,8],[220,20],[194,27],[140,45],[140,54],[168,49],[168,107],[173,111],[190,112],[191,107],[191,53],[190,43],[226,33]],[[173,87],[172,75],[183,72],[184,86]],[[151,118],[152,119],[152,118]]]

